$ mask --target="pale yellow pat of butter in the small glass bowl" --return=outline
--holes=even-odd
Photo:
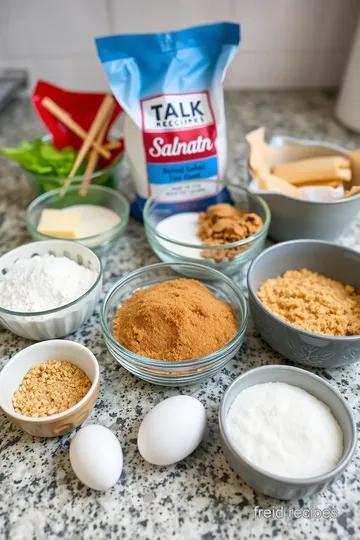
[[[80,220],[79,212],[48,208],[41,213],[37,231],[56,238],[77,238]]]

